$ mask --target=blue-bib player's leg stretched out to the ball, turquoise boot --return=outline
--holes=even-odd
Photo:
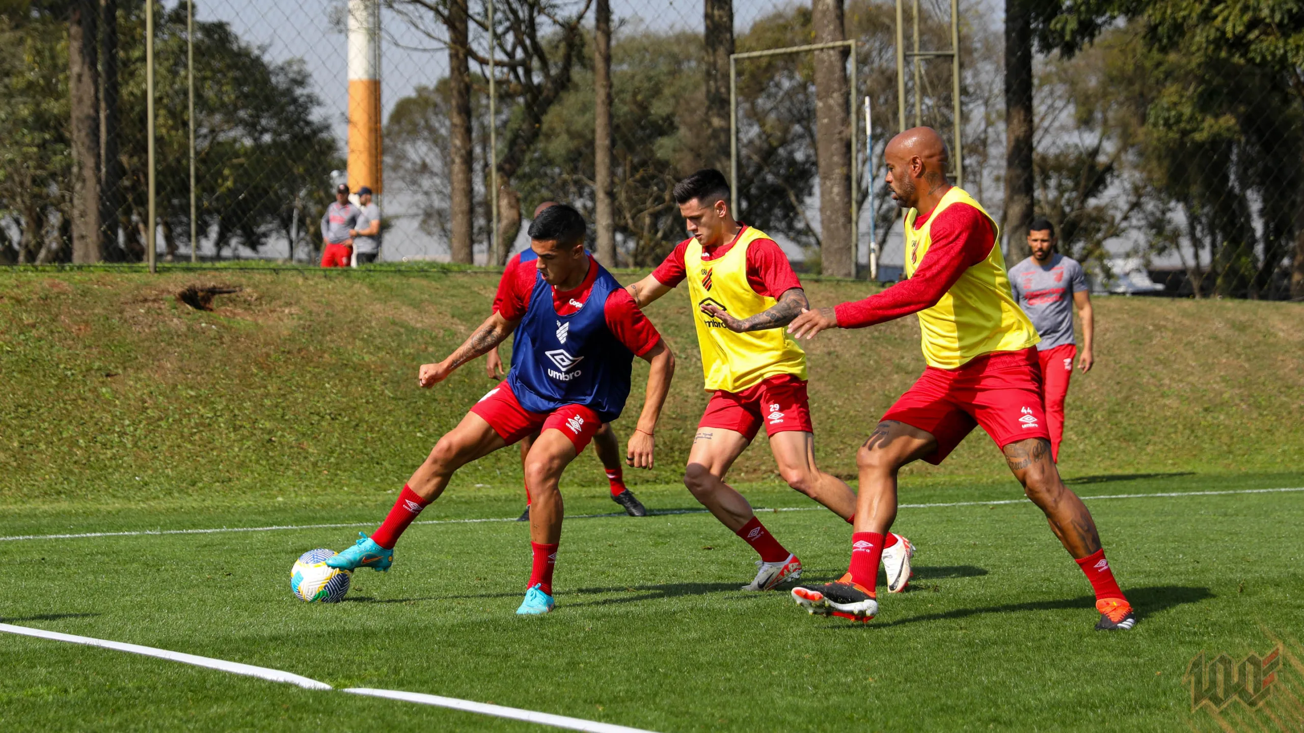
[[[432,501],[439,498],[452,473],[471,463],[472,460],[488,455],[499,447],[505,441],[489,426],[484,417],[475,412],[468,412],[456,428],[443,434],[439,442],[434,443],[430,455],[426,456],[412,477],[408,479],[398,501],[390,509],[385,522],[368,537],[361,533],[361,539],[353,546],[326,560],[326,565],[344,570],[359,567],[372,567],[374,570],[389,570],[394,562],[394,544],[408,524],[416,519],[417,514]]]

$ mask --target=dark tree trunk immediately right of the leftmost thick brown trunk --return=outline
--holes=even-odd
[[[119,138],[117,83],[117,0],[99,0],[99,150],[100,150],[100,227],[108,252],[117,252],[117,227],[123,209],[123,159]]]

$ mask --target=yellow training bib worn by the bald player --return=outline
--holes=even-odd
[[[955,203],[968,203],[982,211],[996,232],[998,244],[992,245],[986,260],[965,270],[936,305],[918,313],[923,360],[939,369],[955,369],[983,353],[1018,351],[1042,340],[1011,293],[996,222],[961,188],[952,188],[941,197],[919,231],[914,230],[919,211],[910,209],[906,213],[905,275],[914,275],[914,269],[932,244],[932,223]]]

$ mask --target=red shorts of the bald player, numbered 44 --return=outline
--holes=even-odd
[[[974,425],[982,425],[1001,449],[1026,438],[1050,440],[1037,348],[986,353],[957,369],[928,366],[883,420],[931,433],[938,449],[925,460],[934,466]]]

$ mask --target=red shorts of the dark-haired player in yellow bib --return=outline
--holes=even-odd
[[[737,430],[750,441],[762,424],[767,436],[785,430],[814,433],[806,382],[792,374],[778,374],[741,393],[716,390],[698,428]]]

